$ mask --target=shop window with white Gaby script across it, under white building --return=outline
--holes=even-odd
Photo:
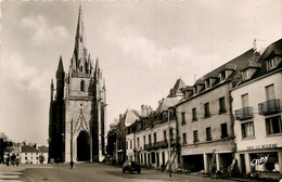
[[[277,152],[249,154],[252,171],[279,172]]]

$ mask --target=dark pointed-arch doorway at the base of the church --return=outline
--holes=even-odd
[[[81,131],[77,138],[77,160],[90,160],[90,140],[86,131]]]

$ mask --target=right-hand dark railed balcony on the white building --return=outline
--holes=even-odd
[[[258,104],[259,115],[272,114],[281,110],[280,100],[270,100]]]

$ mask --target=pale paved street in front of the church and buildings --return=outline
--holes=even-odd
[[[209,178],[176,174],[169,178],[168,173],[151,169],[138,173],[123,173],[120,167],[104,164],[76,164],[74,169],[68,165],[21,165],[17,167],[1,166],[0,181],[24,182],[161,182],[161,181],[185,181],[185,182],[216,182],[227,180],[211,180]],[[5,172],[3,172],[5,171]]]

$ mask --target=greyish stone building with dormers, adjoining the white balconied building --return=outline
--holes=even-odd
[[[230,90],[241,69],[259,55],[251,49],[182,89],[176,105],[182,168],[208,173],[234,162],[235,143]]]

